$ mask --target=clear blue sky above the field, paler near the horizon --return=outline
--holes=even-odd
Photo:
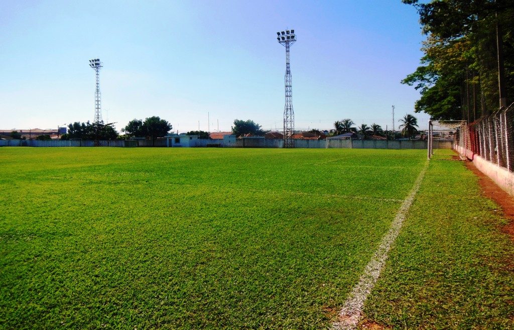
[[[285,48],[295,128],[334,121],[391,128],[419,94],[400,80],[419,65],[418,15],[400,0],[0,0],[0,129],[93,121],[100,58],[103,119],[118,129],[152,115],[173,129],[230,130],[234,119],[282,129]],[[210,125],[208,125],[208,112]],[[420,128],[428,115],[415,114]]]

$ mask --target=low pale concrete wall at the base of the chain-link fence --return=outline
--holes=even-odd
[[[478,154],[473,154],[470,150],[464,149],[458,145],[455,146],[455,150],[461,154],[466,154],[466,157],[472,160],[473,164],[482,173],[491,178],[494,183],[500,186],[503,190],[507,191],[510,196],[514,196],[514,173],[509,172],[506,168],[500,167],[497,164],[493,164]]]

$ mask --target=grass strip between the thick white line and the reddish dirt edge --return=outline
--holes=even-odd
[[[451,150],[436,150],[365,304],[394,329],[514,329],[514,241]]]

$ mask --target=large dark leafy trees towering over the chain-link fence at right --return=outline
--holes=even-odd
[[[402,81],[421,92],[416,112],[470,122],[488,115],[500,106],[499,73],[502,96],[514,95],[514,0],[402,2],[417,9],[428,35],[423,65]]]

